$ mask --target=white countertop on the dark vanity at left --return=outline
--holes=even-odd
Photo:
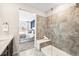
[[[4,52],[7,45],[12,40],[12,35],[0,35],[0,55]]]

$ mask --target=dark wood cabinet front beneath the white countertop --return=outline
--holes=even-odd
[[[4,52],[2,53],[1,56],[12,56],[13,55],[13,39],[9,43],[9,45],[6,47]]]

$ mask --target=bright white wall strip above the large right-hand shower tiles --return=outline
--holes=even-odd
[[[46,16],[51,16],[51,15],[53,15],[55,13],[59,13],[59,12],[61,13],[62,11],[64,11],[65,9],[68,9],[71,6],[75,6],[75,3],[61,4],[61,5],[57,6],[56,8],[54,8],[52,11],[51,10],[48,11],[46,13]]]

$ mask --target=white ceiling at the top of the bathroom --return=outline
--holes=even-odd
[[[56,8],[64,3],[27,3],[26,5],[39,9],[40,11],[47,12],[51,8]]]

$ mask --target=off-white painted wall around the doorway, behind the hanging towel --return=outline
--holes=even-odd
[[[36,13],[41,16],[45,16],[44,13],[42,13],[39,10],[36,10],[34,8],[28,7],[24,4],[0,4],[0,26],[1,23],[7,21],[9,24],[9,33],[14,35],[14,53],[19,52],[19,35],[18,35],[18,28],[19,28],[19,15],[18,15],[18,9],[23,9],[28,12]],[[1,29],[1,28],[0,28]],[[4,33],[0,30],[0,34],[4,35]]]

